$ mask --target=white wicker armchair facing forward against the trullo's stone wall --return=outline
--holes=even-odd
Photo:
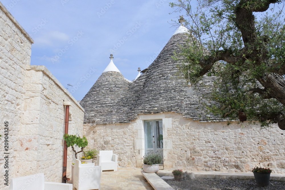
[[[113,154],[113,150],[100,150],[97,155],[97,165],[103,170],[117,171],[118,156]]]

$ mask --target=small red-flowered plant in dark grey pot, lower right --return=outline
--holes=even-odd
[[[269,185],[270,173],[272,172],[272,169],[255,167],[251,171],[253,172],[257,186],[265,187]]]

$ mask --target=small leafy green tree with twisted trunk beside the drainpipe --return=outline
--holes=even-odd
[[[83,136],[83,138],[81,138],[80,136],[76,136],[76,135],[64,134],[63,138],[66,141],[67,147],[71,146],[73,152],[75,152],[75,158],[76,159],[77,159],[77,154],[80,152],[83,152],[83,149],[88,145],[88,142],[87,142],[87,139],[85,136]],[[75,144],[78,147],[81,147],[80,151],[76,152],[76,150],[74,149]]]

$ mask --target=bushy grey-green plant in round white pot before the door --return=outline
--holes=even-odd
[[[156,173],[159,170],[159,164],[162,162],[162,156],[159,153],[148,152],[143,157],[143,171],[146,173]]]

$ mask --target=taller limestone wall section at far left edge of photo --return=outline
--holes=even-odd
[[[4,185],[6,181],[3,181],[3,175],[8,174],[9,184],[15,173],[15,150],[21,127],[21,106],[24,101],[22,94],[25,93],[25,70],[30,65],[32,43],[27,32],[0,2],[0,189],[9,189]],[[8,130],[5,129],[4,122],[8,122]],[[8,142],[4,142],[5,137]],[[4,143],[8,144],[7,147]]]

